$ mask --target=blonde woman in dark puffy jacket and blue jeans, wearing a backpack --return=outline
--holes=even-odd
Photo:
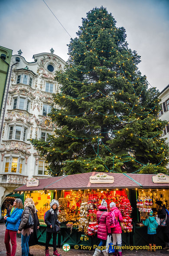
[[[33,225],[34,225],[33,214],[34,213],[36,213],[36,208],[35,208],[33,199],[26,198],[24,202],[22,219],[20,222],[20,226],[18,228],[18,234],[21,233],[22,256],[28,256],[28,253],[29,253],[28,242],[29,242],[30,234],[33,233]]]

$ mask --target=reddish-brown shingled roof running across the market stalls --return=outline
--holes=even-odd
[[[39,179],[37,187],[26,187],[23,185],[14,191],[37,191],[37,190],[70,190],[70,189],[134,189],[134,188],[169,188],[169,183],[153,183],[153,174],[132,174],[132,173],[107,173],[114,176],[114,183],[91,184],[90,176],[98,172],[86,172],[74,175],[65,175]]]

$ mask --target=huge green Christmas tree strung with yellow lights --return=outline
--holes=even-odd
[[[157,118],[159,91],[148,89],[140,56],[104,7],[82,19],[56,73],[48,141],[31,139],[53,176],[83,172],[167,172],[169,148]]]

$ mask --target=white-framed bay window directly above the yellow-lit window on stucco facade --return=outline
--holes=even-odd
[[[21,129],[17,130],[17,127],[21,127]],[[19,134],[16,134],[16,131],[20,131],[20,139],[16,138]],[[9,132],[8,132],[8,140],[17,140],[26,142],[28,128],[25,125],[20,124],[10,124]]]

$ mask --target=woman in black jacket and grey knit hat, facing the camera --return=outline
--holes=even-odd
[[[58,206],[59,203],[57,200],[52,199],[50,202],[50,209],[45,213],[45,223],[46,228],[46,248],[45,255],[49,255],[49,242],[53,236],[53,256],[61,256],[56,249],[56,237],[57,233],[60,231],[60,222],[58,221]]]

